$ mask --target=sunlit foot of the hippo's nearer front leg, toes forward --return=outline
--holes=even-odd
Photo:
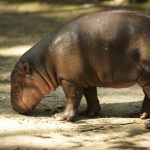
[[[64,111],[62,113],[57,113],[54,115],[55,120],[59,121],[74,121],[76,114],[74,112]]]

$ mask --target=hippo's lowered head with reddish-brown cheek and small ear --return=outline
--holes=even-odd
[[[11,103],[21,114],[29,113],[50,91],[44,78],[29,63],[19,61],[11,73]]]

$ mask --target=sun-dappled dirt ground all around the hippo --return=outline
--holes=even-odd
[[[9,76],[20,55],[67,20],[104,9],[93,4],[62,7],[34,0],[0,0],[0,150],[150,149],[150,130],[139,119],[144,95],[138,85],[98,88],[102,111],[96,118],[79,116],[74,123],[53,119],[53,114],[65,107],[61,87],[44,97],[29,116],[11,108]],[[80,111],[85,108],[83,97]]]

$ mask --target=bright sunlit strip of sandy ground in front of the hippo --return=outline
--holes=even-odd
[[[94,146],[97,150],[148,149],[150,133],[138,121],[98,118],[64,123],[48,118],[4,118],[0,121],[5,125],[0,126],[4,129],[0,132],[0,148],[89,149]]]

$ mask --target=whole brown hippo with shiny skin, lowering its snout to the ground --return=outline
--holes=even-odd
[[[124,88],[138,83],[145,98],[141,118],[150,114],[150,17],[139,12],[94,12],[44,37],[16,63],[11,103],[29,113],[60,85],[67,102],[57,120],[73,121],[82,96],[88,116],[101,107],[97,87]]]

